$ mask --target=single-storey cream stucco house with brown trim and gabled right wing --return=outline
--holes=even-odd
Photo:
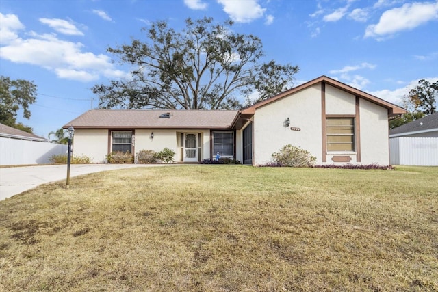
[[[319,77],[239,111],[91,110],[68,122],[75,155],[105,163],[112,151],[174,150],[175,161],[216,152],[250,165],[270,162],[286,144],[318,164],[389,164],[388,118],[406,112],[349,85]]]

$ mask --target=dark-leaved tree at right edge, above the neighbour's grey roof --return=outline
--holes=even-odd
[[[422,111],[426,116],[437,111],[438,80],[430,83],[425,79],[418,81],[417,87],[409,90],[408,100],[415,111]]]

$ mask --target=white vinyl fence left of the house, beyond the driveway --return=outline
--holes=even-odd
[[[0,137],[0,165],[50,163],[52,155],[66,154],[67,145]]]

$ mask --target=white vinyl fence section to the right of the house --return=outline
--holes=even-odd
[[[396,137],[389,139],[391,165],[438,165],[438,137]]]

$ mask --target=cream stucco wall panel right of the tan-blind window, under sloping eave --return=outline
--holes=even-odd
[[[389,165],[389,124],[387,109],[360,100],[362,164]]]

